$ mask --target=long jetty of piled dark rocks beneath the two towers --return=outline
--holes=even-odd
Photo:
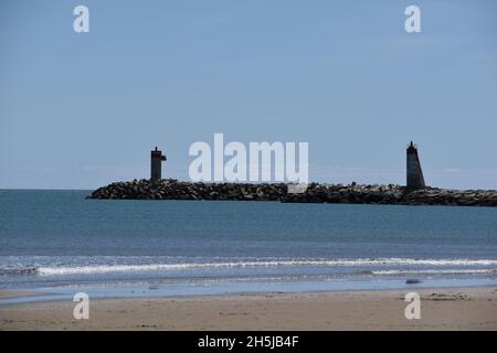
[[[497,190],[425,188],[409,191],[401,185],[310,183],[303,193],[288,193],[284,183],[207,183],[173,179],[116,182],[92,192],[104,200],[224,200],[295,203],[353,203],[399,205],[497,206]]]

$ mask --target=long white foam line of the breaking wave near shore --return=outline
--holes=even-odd
[[[290,260],[254,260],[226,263],[188,263],[188,264],[140,264],[140,265],[91,265],[39,267],[40,275],[77,275],[107,274],[128,271],[186,270],[195,268],[245,268],[245,267],[285,267],[285,266],[497,266],[494,259],[290,259]],[[461,269],[463,270],[463,269]],[[473,269],[469,269],[474,272]],[[381,271],[377,271],[381,275]],[[374,274],[374,271],[373,271]],[[384,272],[387,275],[387,272]]]

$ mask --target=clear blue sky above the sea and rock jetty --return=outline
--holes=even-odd
[[[75,33],[73,9],[89,9]],[[421,10],[408,33],[404,10]],[[188,180],[195,141],[309,143],[309,179],[497,189],[495,0],[0,2],[0,189]]]

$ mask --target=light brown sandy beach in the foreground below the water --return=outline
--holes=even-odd
[[[406,292],[94,299],[88,320],[73,318],[72,301],[36,302],[0,307],[0,329],[497,330],[496,287],[417,290],[420,320],[404,317]]]

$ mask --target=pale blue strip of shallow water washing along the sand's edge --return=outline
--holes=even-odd
[[[373,281],[351,280],[348,284],[336,281],[297,281],[254,282],[250,286],[239,286],[237,281],[216,282],[215,286],[191,286],[191,282],[158,282],[146,281],[104,281],[92,284],[66,284],[62,286],[38,288],[7,288],[0,289],[0,308],[15,304],[31,304],[38,302],[53,302],[72,300],[76,292],[85,292],[94,300],[102,299],[154,299],[154,298],[202,298],[202,297],[230,297],[230,296],[256,296],[272,293],[337,293],[337,292],[387,292],[387,291],[421,291],[430,289],[455,288],[497,288],[495,279],[457,279],[453,280],[426,280],[420,278],[402,278],[385,280],[378,278]],[[173,288],[170,286],[173,285]],[[255,287],[254,287],[255,286]]]

